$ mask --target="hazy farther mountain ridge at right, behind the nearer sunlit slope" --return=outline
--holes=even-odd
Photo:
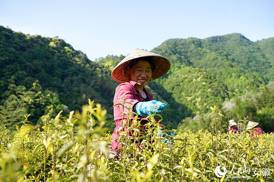
[[[274,38],[252,42],[238,33],[207,39],[169,39],[152,51],[166,56],[173,68],[206,69],[230,92],[244,93],[274,81]]]

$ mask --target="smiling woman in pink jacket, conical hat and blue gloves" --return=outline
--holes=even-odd
[[[127,119],[128,116],[123,115],[123,112],[132,112],[138,114],[138,120],[141,120],[141,127],[146,130],[145,124],[148,122],[144,120],[147,115],[152,115],[150,111],[154,111],[154,105],[157,106],[155,113],[162,114],[163,110],[167,104],[160,101],[153,100],[153,95],[145,89],[145,85],[149,81],[160,78],[170,69],[170,61],[153,52],[145,51],[142,49],[134,49],[128,56],[125,57],[111,72],[111,77],[121,83],[117,86],[115,90],[115,95],[113,99],[114,105],[117,103],[123,104],[122,99],[124,96],[124,106],[122,105],[114,106],[114,121],[116,127],[112,134],[113,140],[111,142],[111,149],[117,155],[120,155],[119,149],[121,145],[115,141],[119,136],[119,128],[122,126],[122,119]],[[130,103],[130,104],[129,104]],[[135,118],[134,115],[131,116],[130,121]],[[156,117],[155,121],[159,122],[159,118]],[[159,122],[160,125],[162,124]],[[126,128],[124,128],[126,130]],[[132,136],[133,132],[129,132],[129,136]]]

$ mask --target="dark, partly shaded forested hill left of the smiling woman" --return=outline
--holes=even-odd
[[[24,35],[0,26],[0,63],[1,125],[18,125],[25,114],[31,114],[33,123],[61,110],[66,115],[81,110],[88,99],[113,113],[118,83],[110,71],[58,37]]]

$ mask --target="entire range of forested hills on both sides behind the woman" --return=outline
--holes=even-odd
[[[169,39],[152,52],[172,63],[165,76],[147,86],[155,99],[168,103],[162,123],[207,128],[210,106],[216,105],[226,119],[249,116],[274,128],[274,38],[251,42],[234,33]],[[60,110],[66,116],[91,99],[107,109],[107,124],[114,127],[113,96],[119,83],[111,79],[111,70],[124,57],[92,62],[58,37],[0,26],[0,124],[19,125],[25,114],[34,124]]]

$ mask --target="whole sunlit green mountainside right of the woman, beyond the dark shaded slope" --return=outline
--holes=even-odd
[[[265,130],[273,131],[273,124],[264,124],[274,121],[270,104],[274,98],[265,89],[269,81],[274,81],[273,46],[274,38],[252,42],[238,33],[207,39],[169,39],[152,52],[169,58],[171,69],[151,87],[161,86],[171,93],[178,103],[191,109],[191,118],[205,115],[202,113],[209,112],[209,106],[216,105],[225,111],[227,120],[249,117],[263,123]],[[197,78],[207,78],[208,82],[203,85]],[[206,89],[211,93],[206,93]],[[261,105],[263,97],[269,100]],[[232,104],[230,109],[227,103]]]

